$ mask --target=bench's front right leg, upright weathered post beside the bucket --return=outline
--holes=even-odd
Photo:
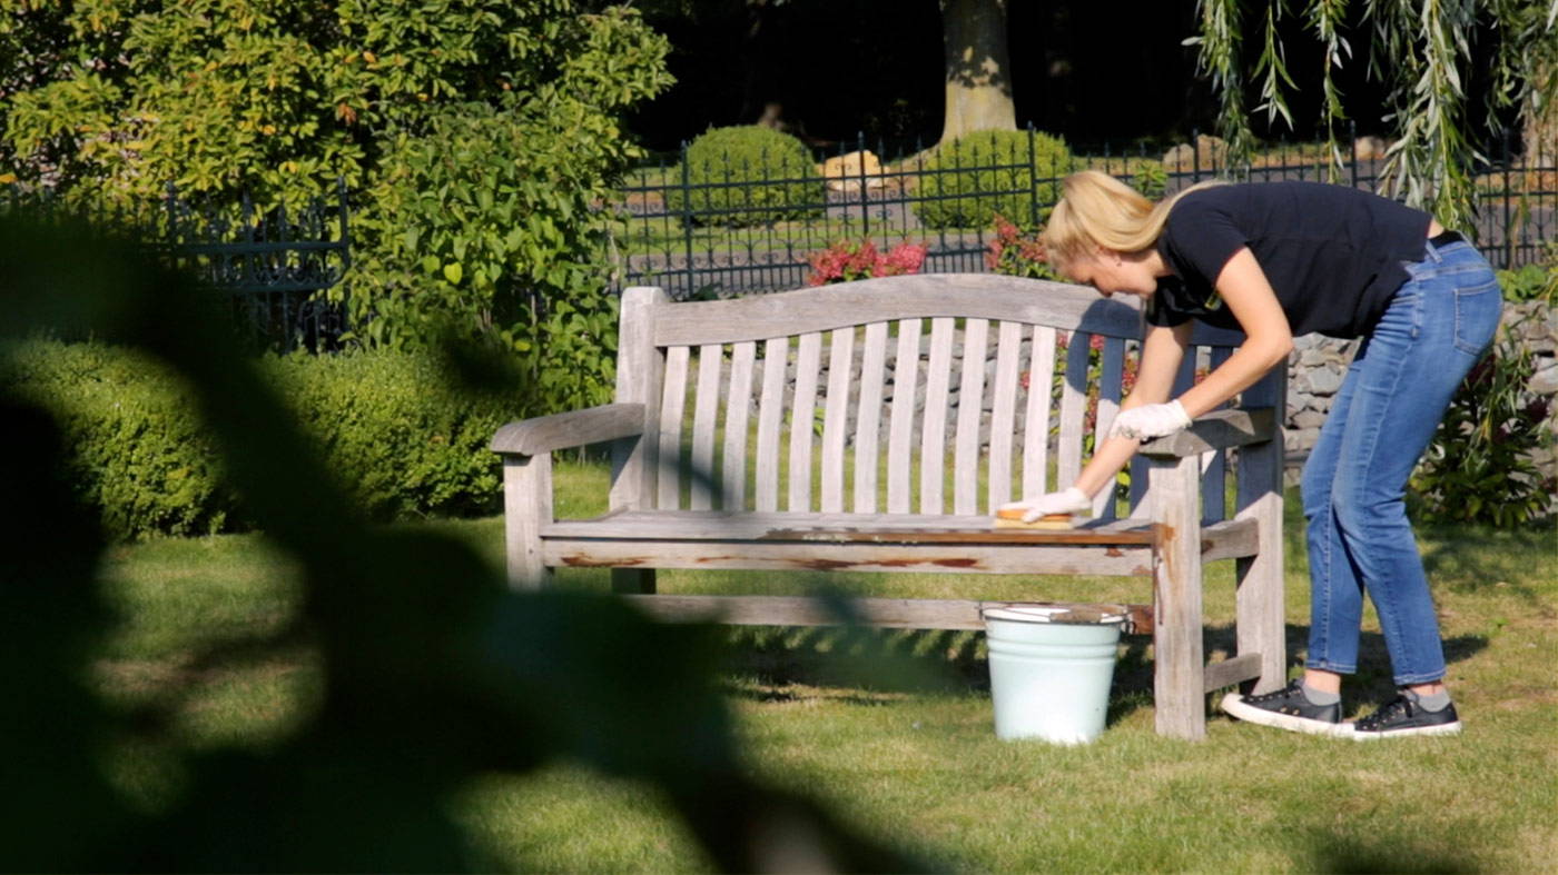
[[[1195,458],[1153,459],[1153,690],[1159,735],[1206,735],[1204,646],[1201,641],[1200,464]]]

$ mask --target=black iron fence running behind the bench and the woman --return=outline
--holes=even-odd
[[[896,160],[863,139],[816,156],[815,174],[776,174],[760,162],[726,160],[692,173],[686,146],[675,160],[642,168],[620,190],[611,248],[614,288],[659,285],[673,297],[723,297],[805,285],[813,258],[838,243],[869,241],[885,251],[902,243],[925,248],[924,272],[982,272],[994,223],[969,223],[978,210],[947,210],[966,199],[1000,204],[1005,218],[1033,227],[1053,206],[1056,182],[1095,168],[1136,184],[1148,196],[1173,193],[1215,176],[1251,181],[1310,179],[1391,193],[1384,143],[1354,137],[1340,162],[1324,145],[1264,151],[1229,168],[1212,137],[1195,137],[1167,154],[1097,149],[1064,162],[1045,160],[1042,134],[1008,139],[1014,148],[947,162],[922,149]],[[1558,237],[1558,156],[1521,154],[1517,135],[1477,168],[1475,227],[1469,232],[1496,268],[1542,260]],[[1549,146],[1550,148],[1550,146]],[[703,181],[698,181],[698,179]],[[774,193],[787,201],[776,209]],[[988,212],[988,210],[986,210]],[[947,221],[949,213],[963,216]]]

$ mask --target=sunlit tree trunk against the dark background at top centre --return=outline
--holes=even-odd
[[[971,131],[1014,131],[1006,0],[941,0],[947,103],[941,142]]]

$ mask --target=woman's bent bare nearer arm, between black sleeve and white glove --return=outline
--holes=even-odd
[[[1248,246],[1228,260],[1217,276],[1215,288],[1234,319],[1239,319],[1245,343],[1206,380],[1179,395],[1179,406],[1192,419],[1248,389],[1293,352],[1293,330],[1287,324],[1287,313]]]

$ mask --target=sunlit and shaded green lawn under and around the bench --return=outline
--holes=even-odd
[[[600,509],[605,475],[559,466],[559,514]],[[1290,501],[1290,506],[1295,504]],[[494,562],[500,520],[428,523]],[[1301,652],[1307,582],[1301,528],[1288,520],[1288,645]],[[1450,666],[1466,722],[1458,738],[1359,744],[1212,718],[1207,740],[1153,733],[1151,660],[1122,648],[1109,729],[1086,747],[1002,743],[991,727],[972,634],[737,629],[723,669],[754,774],[820,796],[849,822],[958,870],[1555,870],[1558,867],[1558,543],[1552,528],[1426,529]],[[1231,564],[1207,587],[1209,648],[1226,648]],[[262,537],[160,540],[115,548],[106,585],[122,623],[104,643],[104,696],[134,701],[157,677],[190,671],[217,635],[274,629],[298,603],[290,568]],[[1142,581],[1028,581],[838,575],[887,595],[974,590],[992,598],[1142,599]],[[805,592],[796,575],[661,575],[665,592]],[[561,576],[606,587],[600,571]],[[199,618],[192,623],[192,618]],[[633,654],[625,654],[625,665]],[[1348,710],[1390,694],[1368,617],[1363,671]],[[626,668],[625,668],[626,669]],[[904,671],[896,671],[904,669]],[[263,747],[308,712],[315,671],[296,659],[203,677],[181,727],[204,746]],[[154,754],[109,764],[156,806],[178,792]],[[497,866],[545,870],[698,870],[678,822],[642,786],[567,763],[478,782],[455,802]]]

